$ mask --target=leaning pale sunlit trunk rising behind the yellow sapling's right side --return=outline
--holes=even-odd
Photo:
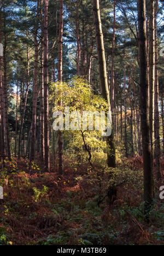
[[[101,82],[101,92],[102,97],[106,99],[108,103],[109,111],[110,109],[110,99],[109,99],[109,89],[107,80],[107,69],[106,69],[106,58],[103,43],[103,33],[101,25],[101,16],[99,11],[99,0],[93,0],[93,15],[96,30],[96,43],[98,52],[98,65],[99,65],[99,79]],[[107,140],[107,164],[109,167],[115,167],[115,146],[114,146],[114,136],[113,127],[112,134],[106,137]]]

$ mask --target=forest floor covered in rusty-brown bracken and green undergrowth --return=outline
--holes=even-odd
[[[142,172],[139,157],[128,163],[136,174]],[[14,172],[2,179],[0,244],[164,244],[163,163],[149,224],[144,222],[143,189],[135,179],[118,186],[113,205],[108,197],[98,205],[99,183],[87,174],[87,165],[74,170],[65,164],[63,175],[53,168],[43,174],[38,166],[27,159],[6,160],[8,173]]]

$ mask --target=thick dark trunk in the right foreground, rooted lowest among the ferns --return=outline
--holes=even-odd
[[[144,210],[149,222],[149,212],[154,197],[153,165],[149,127],[148,80],[147,80],[147,36],[145,24],[145,0],[138,0],[139,71],[140,71],[140,120],[142,131],[144,168]]]

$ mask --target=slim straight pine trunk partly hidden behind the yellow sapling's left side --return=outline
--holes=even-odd
[[[62,82],[62,41],[63,41],[63,0],[60,0],[60,24],[58,34],[58,74],[57,80]],[[60,102],[62,105],[62,101]],[[63,140],[62,132],[58,131],[58,172],[63,174]]]

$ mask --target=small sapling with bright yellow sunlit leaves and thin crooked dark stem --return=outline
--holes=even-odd
[[[105,141],[102,135],[101,125],[103,120],[101,119],[101,124],[96,123],[96,118],[99,118],[99,113],[104,111],[104,113],[108,110],[107,102],[100,96],[96,96],[92,94],[91,86],[87,84],[83,79],[75,77],[74,79],[68,82],[56,82],[51,85],[52,94],[49,97],[50,101],[53,102],[55,110],[60,110],[62,113],[65,113],[65,107],[69,107],[69,113],[80,113],[80,118],[77,118],[75,122],[74,116],[70,115],[70,124],[71,122],[75,122],[74,126],[77,127],[76,130],[68,131],[66,127],[66,116],[65,116],[65,126],[63,129],[63,136],[68,140],[67,147],[70,149],[83,149],[87,151],[89,154],[89,162],[91,164],[91,149],[92,148],[103,148],[102,152],[106,149]],[[59,105],[58,102],[62,101],[62,105]],[[95,113],[94,118],[91,116],[87,117],[86,130],[84,130],[84,122],[86,119],[83,113]],[[98,115],[96,115],[98,114]],[[78,115],[77,115],[78,116]],[[82,117],[81,117],[82,116]],[[98,119],[97,119],[98,120]],[[104,126],[107,126],[107,116],[103,123]],[[89,130],[89,127],[93,125],[93,130]],[[68,136],[69,133],[69,136]],[[72,140],[70,141],[70,134],[72,136]],[[89,150],[88,150],[89,149]],[[83,150],[82,150],[83,151]],[[91,164],[92,165],[92,164]]]

